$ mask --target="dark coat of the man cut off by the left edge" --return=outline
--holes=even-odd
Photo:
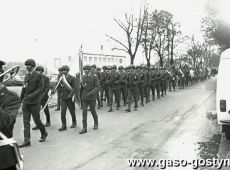
[[[0,132],[7,138],[13,137],[14,123],[20,105],[18,95],[9,91],[0,82]],[[0,169],[16,170],[16,163],[14,149],[9,145],[0,146]]]

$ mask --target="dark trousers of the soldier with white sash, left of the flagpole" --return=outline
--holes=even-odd
[[[66,111],[69,109],[70,115],[72,117],[72,123],[77,123],[75,114],[75,104],[72,99],[62,99],[61,100],[61,121],[62,126],[66,126]]]

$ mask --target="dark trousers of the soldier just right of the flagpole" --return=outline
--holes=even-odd
[[[93,116],[94,125],[98,125],[98,116],[95,109],[96,100],[82,100],[82,125],[83,129],[87,129],[87,108],[90,108],[91,114]]]

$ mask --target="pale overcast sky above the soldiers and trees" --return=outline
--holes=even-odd
[[[173,13],[186,35],[198,34],[205,0],[149,0],[153,9]],[[142,0],[2,0],[0,59],[41,64],[54,57],[74,56],[111,47],[105,34],[122,37],[113,18],[138,13]],[[107,43],[107,44],[106,44]],[[110,46],[110,47],[109,47]]]

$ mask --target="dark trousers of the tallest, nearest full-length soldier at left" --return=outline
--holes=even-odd
[[[22,105],[23,111],[23,124],[24,124],[24,141],[30,141],[30,118],[33,117],[35,125],[41,132],[45,134],[46,129],[40,119],[40,103],[39,104],[25,104]]]

